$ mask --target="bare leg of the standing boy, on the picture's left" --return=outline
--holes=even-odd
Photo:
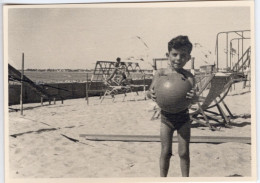
[[[172,156],[172,137],[173,130],[166,124],[161,122],[160,138],[161,138],[161,157],[160,157],[160,176],[166,177],[170,166],[170,158]]]

